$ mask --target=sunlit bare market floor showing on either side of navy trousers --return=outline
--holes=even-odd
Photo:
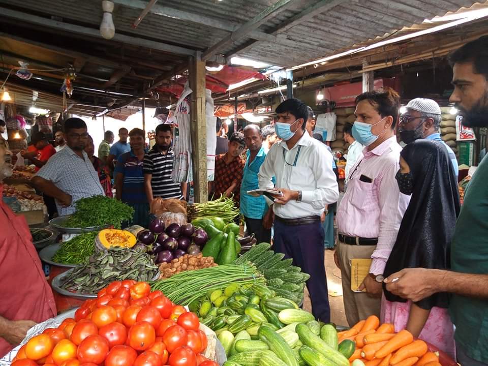
[[[330,321],[337,325],[347,326],[344,302],[342,298],[341,271],[334,263],[334,252],[325,251],[325,272],[327,273],[327,287],[329,290]],[[312,311],[307,288],[305,288],[305,300],[303,309]]]

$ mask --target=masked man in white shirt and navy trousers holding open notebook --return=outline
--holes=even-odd
[[[339,189],[332,170],[332,154],[305,130],[307,105],[288,99],[276,109],[275,129],[281,142],[274,144],[259,170],[259,188],[275,188],[274,250],[293,258],[310,275],[307,281],[312,313],[330,321],[324,267],[324,232],[320,216],[327,204],[337,202]],[[271,178],[276,177],[276,186]],[[300,299],[297,299],[300,300]]]

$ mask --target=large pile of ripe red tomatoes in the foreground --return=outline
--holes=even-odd
[[[198,316],[146,282],[115,281],[57,328],[22,346],[12,366],[218,366],[203,356]]]

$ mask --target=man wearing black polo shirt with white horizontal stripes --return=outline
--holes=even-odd
[[[186,183],[180,185],[171,178],[174,158],[172,139],[171,126],[159,125],[156,127],[156,145],[144,157],[144,186],[149,205],[156,197],[180,200],[184,197],[181,189],[186,191]]]

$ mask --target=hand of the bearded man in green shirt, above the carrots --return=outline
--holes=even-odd
[[[384,282],[392,294],[415,302],[436,293],[435,284],[442,281],[442,271],[405,268],[388,276]]]

